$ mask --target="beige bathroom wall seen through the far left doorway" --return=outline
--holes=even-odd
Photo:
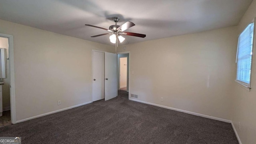
[[[10,69],[9,69],[9,48],[8,38],[0,37],[0,48],[6,48],[6,78],[3,79],[4,85],[2,85],[3,96],[3,110],[10,109]]]

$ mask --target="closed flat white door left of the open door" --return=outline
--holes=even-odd
[[[105,53],[93,51],[93,102],[104,99],[105,92]]]

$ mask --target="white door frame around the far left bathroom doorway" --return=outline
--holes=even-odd
[[[9,50],[9,68],[10,68],[10,108],[11,123],[16,124],[16,105],[15,105],[15,81],[14,81],[14,47],[13,36],[10,34],[0,33],[0,37],[8,38]]]

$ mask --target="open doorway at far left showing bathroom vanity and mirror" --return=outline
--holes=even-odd
[[[0,127],[12,124],[8,38],[0,37]]]

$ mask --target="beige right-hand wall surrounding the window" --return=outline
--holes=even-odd
[[[238,25],[238,33],[256,17],[256,0],[248,8]],[[255,38],[254,38],[255,40]],[[254,42],[255,44],[255,42]],[[235,83],[232,121],[238,132],[242,144],[256,144],[256,48],[254,46],[254,59],[252,62],[252,89],[249,91]],[[234,78],[235,79],[235,78]],[[240,122],[240,128],[239,128]]]

